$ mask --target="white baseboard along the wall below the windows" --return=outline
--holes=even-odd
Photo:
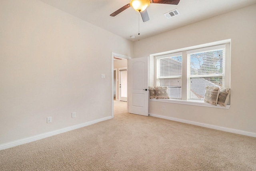
[[[168,119],[168,120],[172,120],[172,121],[188,123],[188,124],[197,125],[197,126],[201,126],[201,127],[217,129],[217,130],[220,130],[220,131],[237,133],[237,134],[240,134],[240,135],[246,135],[246,136],[250,136],[250,137],[256,137],[256,133],[254,133],[254,132],[247,132],[247,131],[242,131],[242,130],[238,130],[238,129],[230,129],[230,128],[220,127],[220,126],[216,126],[216,125],[208,125],[208,124],[205,124],[205,123],[198,123],[198,122],[188,121],[188,120],[184,120],[184,119],[177,119],[177,118],[174,118],[174,117],[161,116],[161,115],[156,115],[156,114],[153,114],[153,113],[149,113],[149,115],[153,116],[153,117],[159,117],[159,118],[162,118],[162,119]]]

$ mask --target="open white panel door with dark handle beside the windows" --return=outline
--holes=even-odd
[[[129,113],[148,116],[148,57],[129,60]]]

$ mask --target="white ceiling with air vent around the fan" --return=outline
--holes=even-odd
[[[150,4],[150,20],[143,22],[132,7],[115,17],[114,11],[130,0],[40,0],[64,12],[131,41],[140,40],[232,10],[256,4],[256,0],[180,0],[178,5]],[[178,9],[180,15],[166,19],[164,13]],[[139,21],[140,20],[140,21]],[[140,22],[140,35],[139,31]],[[130,36],[135,36],[134,39]]]

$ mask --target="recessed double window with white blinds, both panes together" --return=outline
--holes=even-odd
[[[154,86],[168,87],[170,99],[177,99],[177,103],[204,101],[207,85],[230,87],[230,40],[162,52],[152,57]]]

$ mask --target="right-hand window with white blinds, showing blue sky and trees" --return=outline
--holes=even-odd
[[[188,99],[203,100],[205,87],[224,86],[225,46],[187,52]]]

